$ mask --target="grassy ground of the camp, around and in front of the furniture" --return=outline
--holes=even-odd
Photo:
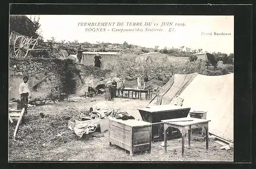
[[[167,141],[167,153],[153,142],[151,154],[142,152],[130,157],[130,153],[115,145],[109,146],[108,131],[94,132],[79,138],[68,128],[70,119],[78,119],[80,112],[96,103],[109,107],[121,107],[136,119],[141,118],[137,108],[145,107],[148,101],[116,98],[106,102],[102,97],[73,98],[76,102],[63,101],[29,108],[23,124],[19,126],[16,141],[13,132],[16,122],[9,125],[9,160],[19,161],[232,161],[233,150],[220,150],[220,144],[210,138],[209,150],[205,142],[192,139],[191,149],[185,141],[184,158],[181,158],[181,138]],[[39,113],[49,114],[41,118]],[[62,134],[57,136],[57,134]]]

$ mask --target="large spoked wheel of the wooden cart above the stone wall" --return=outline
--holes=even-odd
[[[16,57],[25,58],[29,52],[27,39],[23,36],[16,37],[13,48]]]

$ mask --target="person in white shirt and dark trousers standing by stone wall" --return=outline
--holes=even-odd
[[[22,102],[22,108],[25,108],[25,114],[28,113],[27,107],[28,107],[28,102],[29,102],[29,85],[28,85],[28,80],[29,78],[25,76],[23,78],[22,83],[20,83],[19,88],[18,88],[18,93],[20,94],[20,100]]]

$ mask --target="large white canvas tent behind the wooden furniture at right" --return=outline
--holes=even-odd
[[[233,142],[233,74],[176,74],[159,91],[157,104],[170,104],[176,95],[190,111],[207,111],[209,133]]]

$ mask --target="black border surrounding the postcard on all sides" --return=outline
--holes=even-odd
[[[45,2],[44,2],[45,3]],[[246,2],[245,2],[246,3]],[[252,152],[255,151],[255,147],[252,147],[252,129],[255,129],[255,126],[252,128],[252,5],[153,5],[153,4],[116,4],[116,5],[99,5],[99,4],[13,4],[10,7],[10,14],[120,14],[120,15],[234,15],[234,163],[232,162],[218,162],[218,163],[197,163],[197,167],[202,166],[248,166],[250,162],[255,160],[255,157],[252,157]],[[9,9],[9,8],[8,8]],[[7,10],[8,10],[7,9]],[[8,15],[8,14],[7,14]],[[7,23],[7,28],[9,25],[8,16],[5,18],[5,23]],[[4,43],[8,40],[8,29],[5,29],[5,34],[7,37],[4,40]],[[6,49],[8,49],[8,43],[6,43]],[[8,50],[6,53],[8,56]],[[3,62],[2,62],[3,63]],[[8,57],[7,62],[4,63],[5,66],[1,66],[1,72],[3,72],[4,83],[2,87],[2,102],[1,110],[2,112],[7,111],[7,101],[8,101]],[[3,82],[3,81],[2,81]],[[6,93],[6,94],[4,94]],[[3,131],[8,131],[8,122],[7,114],[2,113],[1,120],[1,129]],[[255,130],[254,130],[255,131]],[[3,134],[2,134],[3,135]],[[8,142],[8,134],[4,133],[7,136],[6,142]],[[8,145],[7,145],[8,147]],[[8,148],[3,147],[1,153],[1,162],[4,162],[9,167],[20,167],[24,168],[27,163],[9,163],[8,161]],[[252,149],[254,148],[254,149]],[[239,163],[236,163],[239,162]],[[242,162],[242,163],[241,163]],[[79,163],[79,162],[77,162]],[[142,163],[142,162],[141,162]],[[183,164],[182,164],[183,163]],[[172,166],[181,167],[181,166],[190,166],[191,163],[187,162],[172,162]],[[38,163],[29,162],[30,166],[35,166]],[[41,167],[50,167],[57,164],[62,166],[63,164],[68,163],[43,163]],[[85,166],[84,162],[73,166]],[[95,162],[87,163],[86,166],[96,166],[104,167],[105,164],[108,164],[108,167],[111,167],[111,162]],[[123,163],[118,163],[123,164]],[[130,162],[129,162],[130,164]],[[155,166],[163,167],[170,166],[166,165],[166,162],[159,163],[144,163],[144,167]],[[139,166],[140,164],[136,164]],[[55,165],[56,166],[56,165]],[[133,164],[130,164],[130,167],[133,167]]]

